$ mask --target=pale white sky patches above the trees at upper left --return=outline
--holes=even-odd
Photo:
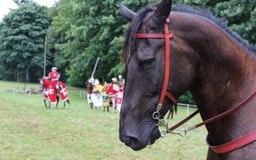
[[[55,4],[56,0],[33,0],[34,2],[51,7]],[[3,16],[9,13],[9,9],[17,9],[16,3],[13,0],[0,0],[0,21],[2,21]]]

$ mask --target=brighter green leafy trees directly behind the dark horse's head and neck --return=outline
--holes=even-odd
[[[122,1],[134,11],[153,2],[155,1]],[[52,29],[61,37],[61,41],[56,41],[55,51],[60,53],[67,65],[69,84],[82,86],[90,78],[97,57],[101,60],[96,69],[96,77],[109,81],[111,77],[124,74],[125,68],[120,56],[125,28],[129,23],[120,14],[118,3],[117,0],[101,3],[89,0],[59,1]],[[241,37],[255,43],[253,1],[177,0],[174,3],[209,9],[213,14],[228,20],[229,26]],[[236,12],[232,10],[235,7]]]

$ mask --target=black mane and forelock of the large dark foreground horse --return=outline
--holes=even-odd
[[[136,35],[139,27],[143,24],[143,20],[146,18],[146,15],[148,12],[154,11],[155,7],[159,3],[152,3],[148,6],[144,7],[143,9],[140,9],[137,12],[137,17],[131,21],[131,25],[126,31],[125,36],[125,45],[124,45],[124,53],[123,58],[126,63],[128,63],[127,60],[129,60],[129,57],[132,53],[132,49],[135,49],[136,45],[136,38],[134,35]],[[227,26],[227,21],[224,19],[220,19],[216,16],[214,16],[211,12],[209,12],[207,9],[201,9],[201,8],[195,8],[188,5],[173,5],[172,11],[175,12],[183,12],[188,14],[195,14],[199,15],[201,17],[206,18],[207,20],[212,21],[214,24],[216,24],[220,29],[222,29],[226,34],[230,35],[230,37],[234,38],[238,43],[240,43],[244,48],[252,52],[253,54],[256,54],[256,47],[247,43],[244,41],[240,36],[236,34],[236,32],[231,31],[230,28]]]

